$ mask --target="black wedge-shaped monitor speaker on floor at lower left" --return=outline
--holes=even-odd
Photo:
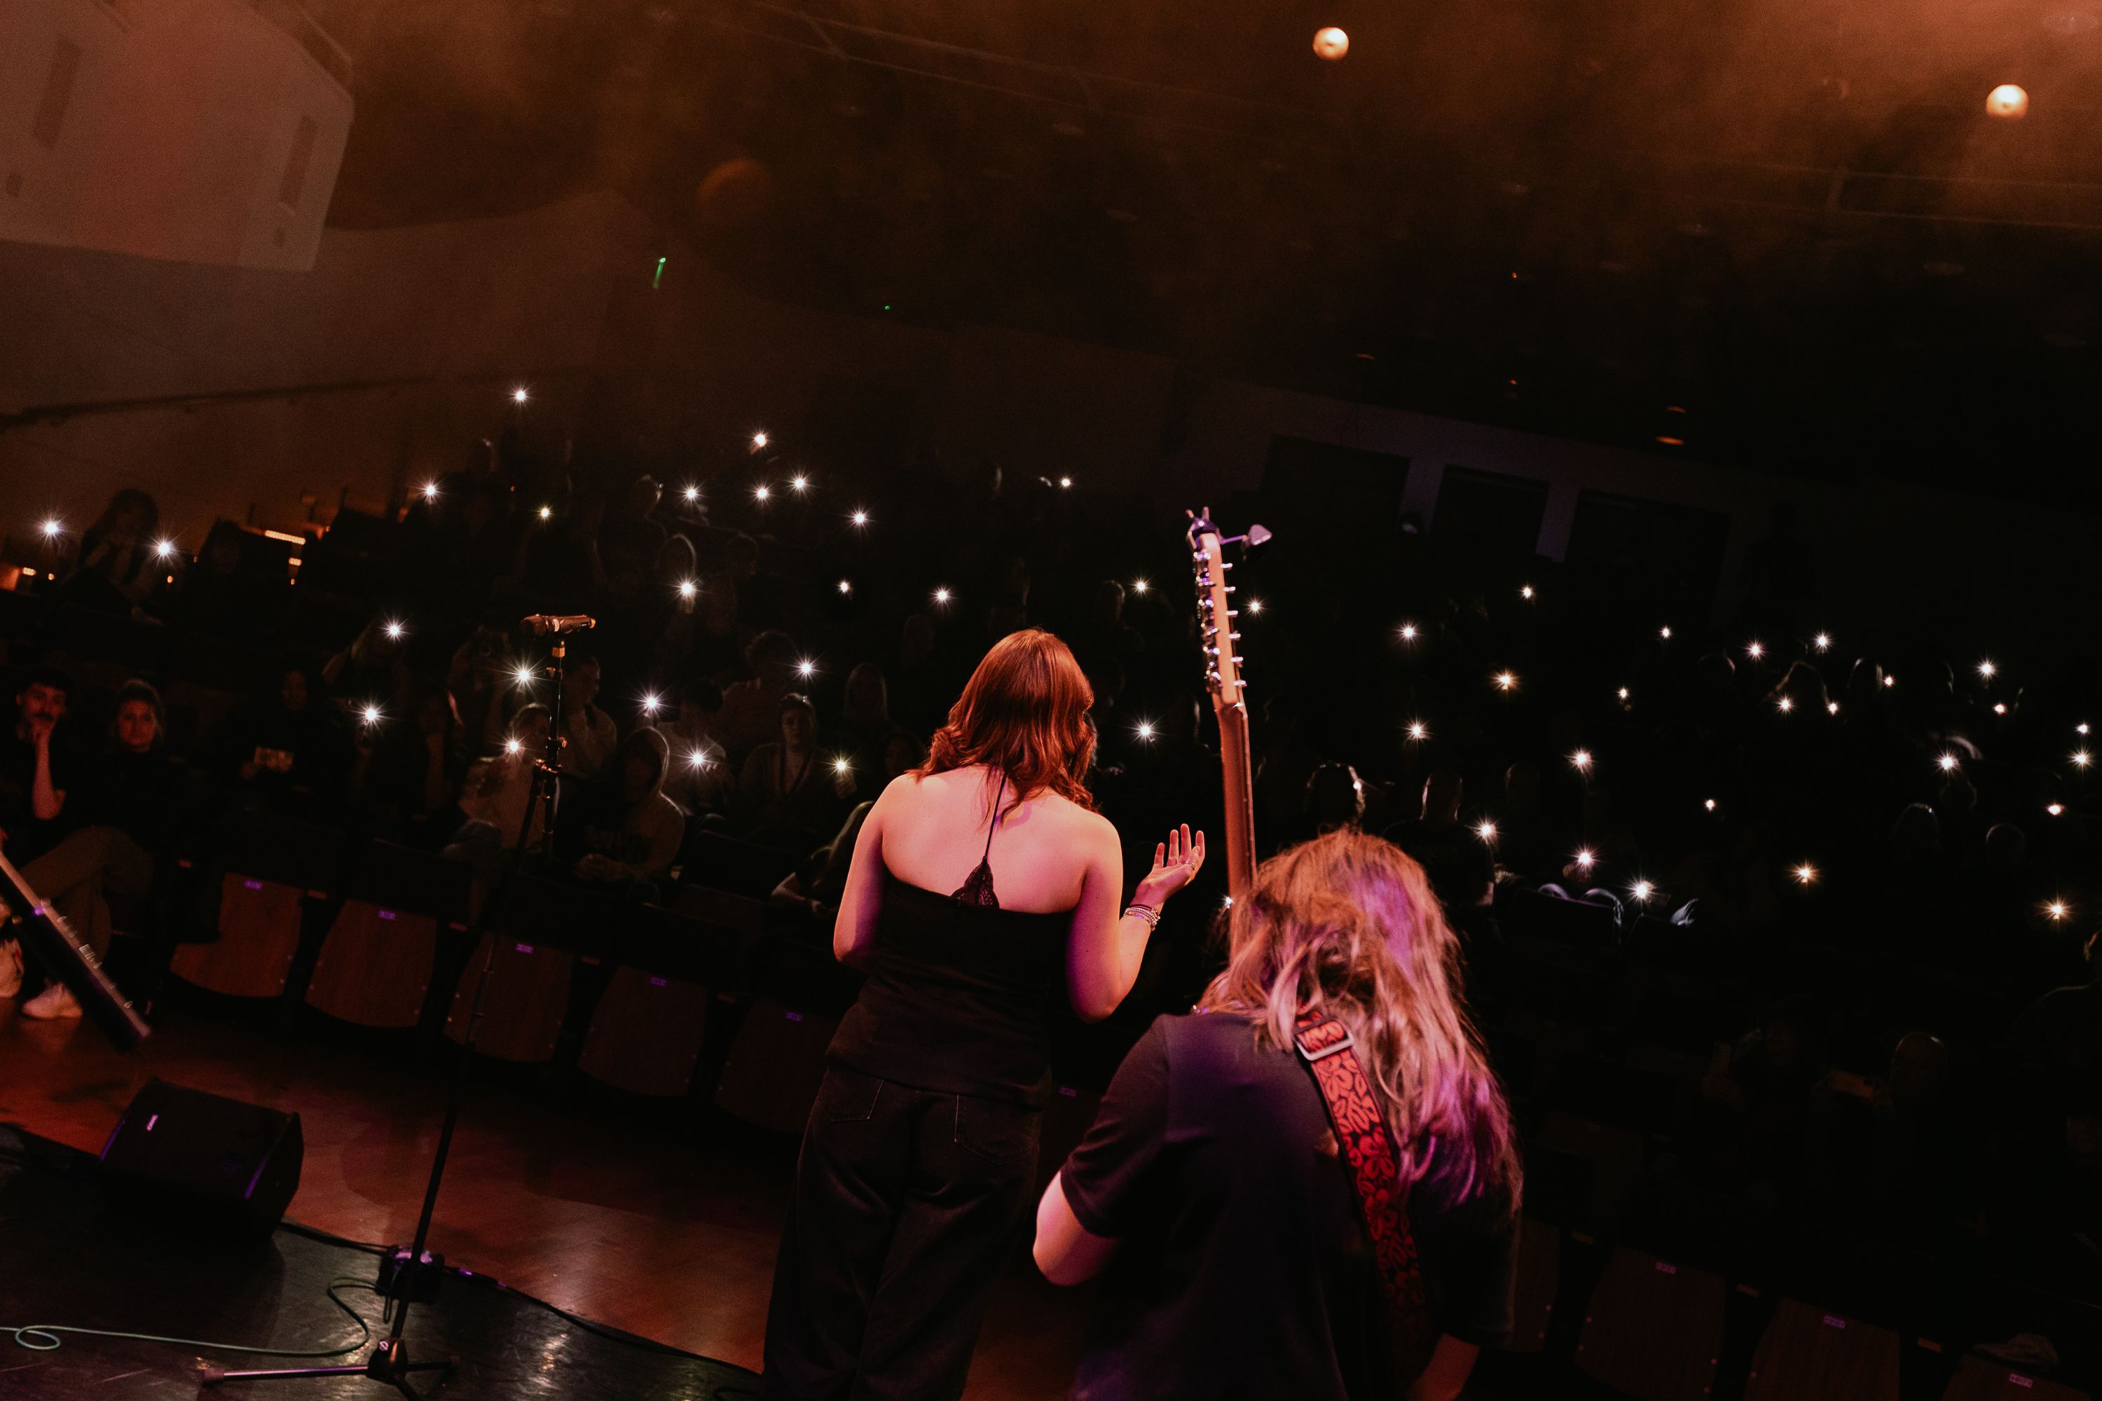
[[[269,1235],[303,1157],[296,1113],[149,1080],[103,1145],[103,1185],[147,1220]]]

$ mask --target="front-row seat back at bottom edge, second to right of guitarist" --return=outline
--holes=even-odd
[[[1623,1246],[1591,1290],[1576,1369],[1633,1401],[1701,1401],[1715,1386],[1722,1327],[1722,1275]]]

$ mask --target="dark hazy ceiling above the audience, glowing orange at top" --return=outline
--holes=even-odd
[[[612,187],[778,298],[2102,506],[2102,0],[309,8],[338,225]]]

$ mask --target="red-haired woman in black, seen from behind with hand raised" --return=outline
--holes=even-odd
[[[1015,632],[853,844],[832,952],[868,983],[828,1052],[774,1267],[765,1395],[963,1395],[1036,1180],[1047,1010],[1116,1010],[1160,907],[1204,861],[1169,834],[1131,905],[1083,783],[1087,678]]]

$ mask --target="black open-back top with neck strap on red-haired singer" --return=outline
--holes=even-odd
[[[1001,779],[1001,794],[1007,779]],[[1001,909],[986,855],[954,895],[883,872],[877,947],[828,1061],[937,1094],[1043,1107],[1051,1096],[1047,1012],[1066,987],[1072,912]]]

